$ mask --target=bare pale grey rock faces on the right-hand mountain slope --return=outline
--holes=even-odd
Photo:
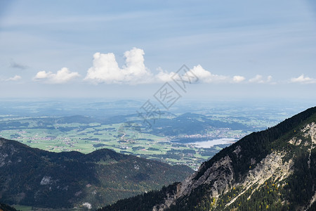
[[[296,131],[294,131],[296,132]],[[292,136],[291,139],[286,141],[294,147],[298,148],[308,148],[308,167],[310,168],[310,156],[312,150],[316,146],[316,124],[311,122],[305,124],[303,129],[301,129],[300,136]],[[301,137],[301,138],[300,138]],[[305,137],[305,139],[303,138]],[[304,142],[306,140],[310,140]],[[242,158],[242,147],[237,145],[231,151],[232,157],[239,160]],[[190,196],[195,188],[205,185],[208,188],[207,194],[209,198],[214,198],[216,201],[223,194],[232,191],[234,188],[241,188],[238,194],[234,194],[234,197],[230,199],[225,207],[228,207],[235,203],[235,201],[242,196],[246,191],[249,194],[249,188],[251,188],[251,193],[248,195],[248,199],[251,198],[254,191],[261,188],[266,181],[271,179],[273,183],[279,184],[284,182],[292,174],[294,174],[294,158],[296,155],[292,154],[290,151],[285,151],[279,149],[272,150],[271,153],[265,155],[260,161],[256,161],[256,158],[250,158],[249,170],[242,176],[242,179],[237,181],[234,168],[232,166],[232,157],[225,155],[218,161],[213,162],[213,164],[206,169],[206,163],[199,167],[199,170],[187,177],[182,183],[178,184],[177,191],[173,194],[167,194],[164,203],[155,205],[153,207],[154,211],[168,210],[171,205],[178,203],[178,199],[186,198]],[[202,172],[204,172],[202,174]],[[201,176],[202,174],[202,176]],[[310,199],[310,205],[315,203],[316,193]],[[309,206],[310,206],[309,205]],[[216,206],[216,205],[215,205]]]

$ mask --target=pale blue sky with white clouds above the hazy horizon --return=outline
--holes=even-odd
[[[0,0],[0,98],[316,100],[315,68],[312,0]]]

